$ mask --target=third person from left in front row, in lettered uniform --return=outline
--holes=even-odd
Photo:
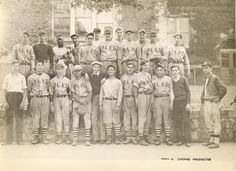
[[[70,144],[70,80],[64,75],[64,65],[57,63],[55,66],[56,76],[50,81],[51,110],[54,111],[57,140],[56,144],[62,143],[62,127],[64,125],[66,144]]]

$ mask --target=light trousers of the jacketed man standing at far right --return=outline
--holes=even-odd
[[[216,102],[204,102],[204,118],[206,128],[210,134],[211,142],[219,143],[220,132],[221,132],[221,120],[219,104]]]

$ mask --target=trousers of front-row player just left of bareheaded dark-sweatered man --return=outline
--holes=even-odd
[[[155,133],[161,136],[162,118],[164,120],[166,138],[170,137],[170,97],[155,97],[153,118],[155,123]]]

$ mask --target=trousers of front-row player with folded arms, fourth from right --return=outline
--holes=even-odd
[[[138,132],[139,136],[148,135],[151,123],[151,94],[138,95]]]

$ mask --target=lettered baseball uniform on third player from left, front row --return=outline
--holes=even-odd
[[[65,134],[70,133],[70,114],[69,114],[69,91],[70,80],[66,77],[54,77],[50,81],[50,95],[53,96],[53,106],[56,121],[57,134],[62,135],[62,127],[64,125]]]

